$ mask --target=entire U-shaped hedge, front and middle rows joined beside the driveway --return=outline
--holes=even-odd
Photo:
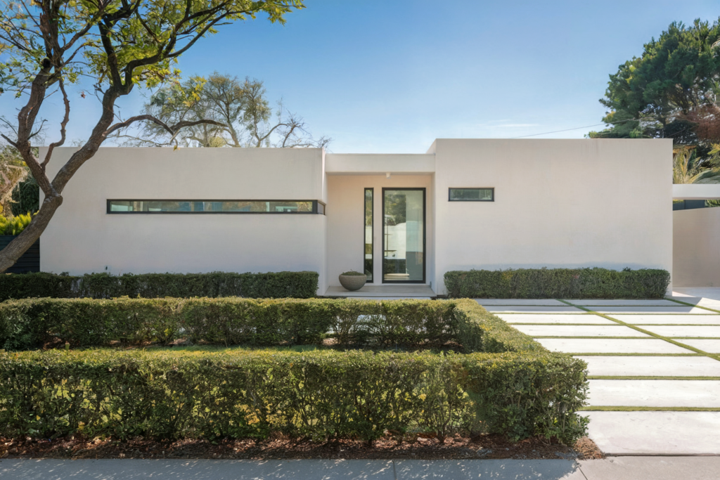
[[[374,440],[390,432],[585,433],[587,365],[550,353],[477,302],[25,299],[0,304],[6,348],[169,341],[341,346],[0,353],[7,435]],[[464,353],[397,351],[454,342]],[[390,349],[382,349],[387,347]],[[295,351],[293,351],[295,350]]]

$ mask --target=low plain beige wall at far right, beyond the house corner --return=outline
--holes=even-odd
[[[672,212],[673,286],[720,286],[720,207]]]

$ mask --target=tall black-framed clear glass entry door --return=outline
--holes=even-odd
[[[425,189],[382,189],[382,282],[425,283]]]

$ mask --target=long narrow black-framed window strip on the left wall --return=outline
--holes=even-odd
[[[108,200],[107,213],[325,214],[319,200]]]

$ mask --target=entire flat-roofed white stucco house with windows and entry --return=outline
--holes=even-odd
[[[73,151],[55,150],[51,178]],[[348,270],[436,294],[459,269],[672,273],[672,140],[438,139],[407,155],[101,148],[63,197],[42,271],[312,270],[320,295]]]

